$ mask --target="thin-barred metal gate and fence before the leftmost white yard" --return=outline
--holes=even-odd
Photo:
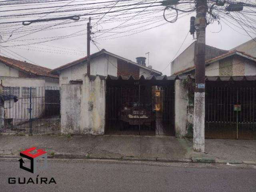
[[[60,132],[60,87],[0,87],[0,132]]]

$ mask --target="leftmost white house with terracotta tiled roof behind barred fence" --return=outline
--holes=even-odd
[[[0,56],[0,119],[1,128],[20,125],[30,118],[45,116],[49,97],[60,95],[59,77],[49,74],[51,69]],[[55,95],[54,95],[55,94]],[[16,97],[6,99],[6,97]],[[49,111],[49,110],[48,110]],[[9,125],[8,125],[9,126]]]

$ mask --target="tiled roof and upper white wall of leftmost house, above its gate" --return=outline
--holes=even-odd
[[[1,86],[59,86],[59,77],[51,69],[0,56]]]

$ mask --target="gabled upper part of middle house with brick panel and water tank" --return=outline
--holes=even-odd
[[[125,77],[132,75],[134,78],[139,78],[142,75],[145,78],[151,75],[162,75],[151,66],[146,67],[145,59],[138,58],[136,63],[102,49],[90,56],[90,74]],[[52,70],[51,73],[60,76],[60,86],[68,84],[70,80],[81,80],[84,74],[87,74],[87,57],[60,66]]]

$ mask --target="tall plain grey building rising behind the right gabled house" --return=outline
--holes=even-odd
[[[186,48],[178,57],[176,57],[171,64],[171,74],[180,74],[184,70],[190,70],[195,66],[195,50],[197,43],[194,41],[188,48]],[[218,49],[206,45],[205,60],[209,60],[216,56],[227,53],[227,50]]]

